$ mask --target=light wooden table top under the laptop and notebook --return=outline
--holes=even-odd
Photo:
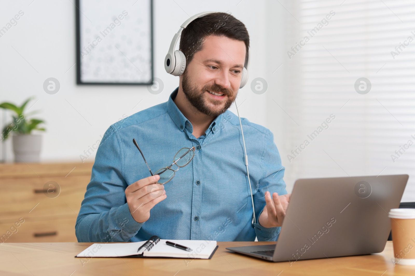
[[[415,266],[391,262],[392,242],[379,254],[273,263],[229,252],[225,247],[273,242],[218,242],[210,260],[90,258],[74,256],[90,242],[39,242],[0,244],[0,275],[415,275]]]

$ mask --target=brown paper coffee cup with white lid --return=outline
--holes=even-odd
[[[395,263],[415,265],[415,209],[391,209],[389,217]]]

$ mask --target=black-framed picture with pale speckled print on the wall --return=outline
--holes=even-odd
[[[153,84],[152,0],[76,0],[77,84]]]

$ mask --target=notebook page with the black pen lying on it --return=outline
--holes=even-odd
[[[186,251],[170,245],[166,245],[166,240],[160,240],[150,251],[144,251],[146,257],[176,257],[192,259],[209,259],[216,247],[215,240],[168,240],[186,247],[193,251]]]

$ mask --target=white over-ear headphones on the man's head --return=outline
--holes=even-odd
[[[187,25],[195,20],[196,18],[203,17],[206,14],[215,13],[215,12],[201,12],[198,14],[193,15],[189,19],[187,19],[178,30],[177,34],[173,36],[173,40],[171,41],[170,48],[168,49],[168,53],[166,58],[164,59],[164,69],[169,74],[173,76],[180,76],[183,74],[184,70],[186,69],[186,57],[184,53],[180,50],[174,50],[176,48],[177,41],[180,37],[181,32]],[[249,68],[249,50],[247,54],[247,60],[244,63],[244,69],[242,69],[242,77],[241,77],[241,84],[239,88],[244,87],[245,84],[248,82],[248,68]]]

